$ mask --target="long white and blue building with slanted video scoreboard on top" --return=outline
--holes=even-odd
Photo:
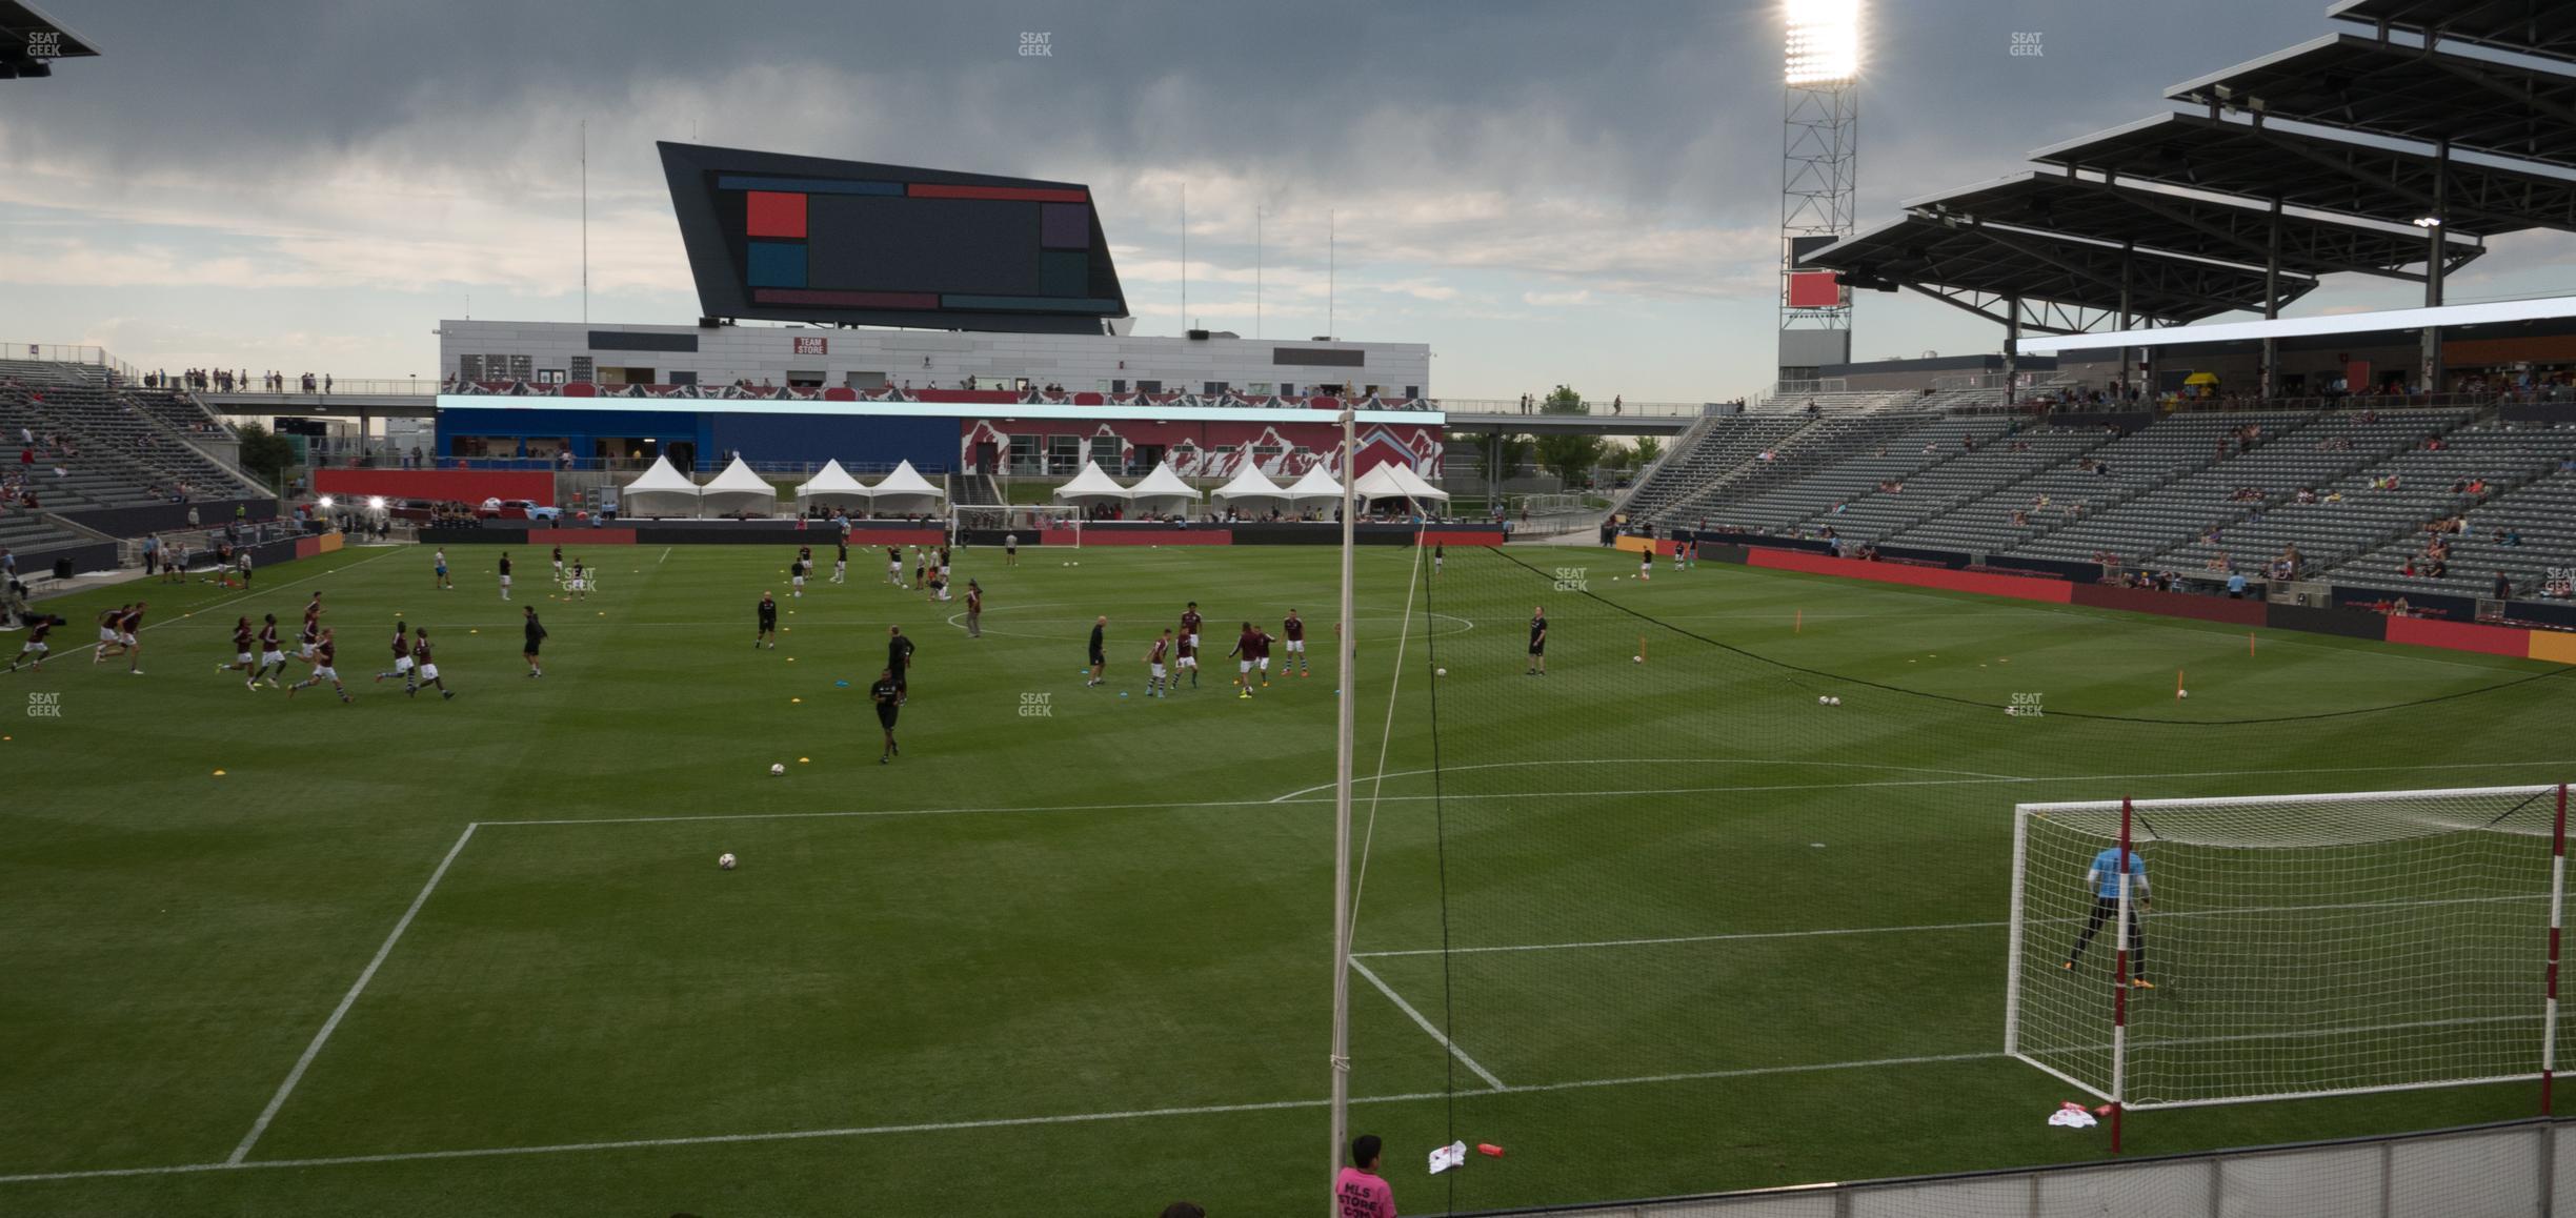
[[[1082,183],[659,152],[698,322],[440,322],[440,458],[1440,476],[1427,345],[1131,335]]]

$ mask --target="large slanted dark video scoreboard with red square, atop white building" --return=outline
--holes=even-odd
[[[659,147],[708,317],[1097,335],[1128,312],[1079,183]]]

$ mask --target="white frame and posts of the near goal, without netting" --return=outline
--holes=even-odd
[[[2509,1071],[2509,1074],[2476,1074],[2455,1079],[2432,1082],[2391,1082],[2391,1084],[2354,1084],[2354,1087],[2316,1087],[2316,1089],[2285,1089],[2285,1092],[2249,1092],[2226,1097],[2187,1097],[2187,1100],[2148,1100],[2138,1102],[2130,1097],[2128,1074],[2128,1007],[2130,1007],[2130,927],[2133,927],[2133,894],[2128,876],[2128,857],[2141,842],[2136,824],[2156,811],[2179,809],[2218,809],[2218,806],[2280,806],[2293,811],[2298,806],[2342,803],[2342,806],[2370,806],[2370,803],[2401,803],[2401,801],[2439,801],[2439,798],[2519,798],[2524,806],[2530,801],[2543,801],[2540,809],[2550,816],[2548,832],[2535,832],[2532,850],[2548,850],[2548,891],[2530,894],[2532,899],[2548,899],[2548,940],[2532,942],[2532,971],[2543,976],[2537,1017],[2540,1017],[2540,1051],[2535,1071]],[[2550,809],[2550,801],[2555,803]],[[2035,819],[2092,819],[2094,824],[2110,824],[2115,819],[2117,837],[2115,845],[2123,852],[2123,865],[2117,873],[2117,914],[2110,917],[2112,927],[2112,994],[2102,1002],[2102,1033],[2110,1045],[2110,1079],[2079,1079],[2048,1061],[2040,1061],[2025,1045],[2025,953],[2048,953],[2048,945],[2027,942],[2030,930],[2030,827]],[[2468,824],[2463,824],[2468,829]],[[2110,801],[2061,801],[2061,803],[2014,803],[2012,809],[2012,917],[2009,917],[2009,948],[2004,960],[2004,1053],[2040,1069],[2069,1087],[2076,1087],[2105,1105],[2110,1105],[2112,1151],[2120,1148],[2120,1112],[2138,1107],[2200,1107],[2200,1105],[2239,1105],[2262,1100],[2308,1100],[2329,1094],[2370,1094],[2370,1092],[2401,1092],[2401,1089],[2427,1089],[2427,1087],[2463,1087],[2486,1082],[2540,1082],[2540,1110],[2550,1110],[2550,1084],[2558,1071],[2558,940],[2566,917],[2566,829],[2568,829],[2568,783],[2543,783],[2543,785],[2499,785],[2499,788],[2434,788],[2434,791],[2360,791],[2360,793],[2311,793],[2311,796],[2218,796],[2218,798],[2110,798]],[[2148,839],[2154,834],[2148,832]],[[2110,850],[2112,837],[2102,837],[2105,850]],[[2154,894],[2154,878],[2148,878],[2148,891]],[[2089,937],[2089,935],[2087,935]],[[2141,973],[2143,976],[2143,973]],[[2166,979],[2164,984],[2177,984]],[[2182,981],[2187,984],[2187,981]],[[2102,1048],[2102,1045],[2092,1045]]]

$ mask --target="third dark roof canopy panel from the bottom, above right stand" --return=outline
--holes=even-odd
[[[2360,144],[2200,113],[2159,113],[2030,155],[2045,165],[2143,178],[2287,206],[2414,224],[2437,203],[2452,232],[2576,232],[2576,175],[2514,170],[2421,149]],[[2445,170],[2447,165],[2447,170]],[[2447,173],[2447,183],[2442,175]],[[2437,191],[2439,185],[2439,191]]]

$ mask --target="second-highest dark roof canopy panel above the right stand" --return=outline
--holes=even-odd
[[[2195,106],[2576,165],[2576,75],[2326,33],[2174,85]]]

